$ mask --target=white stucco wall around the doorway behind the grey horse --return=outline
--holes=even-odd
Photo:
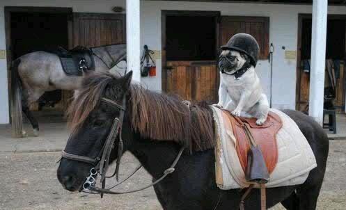
[[[113,6],[123,6],[125,0],[1,0],[0,1],[0,50],[6,49],[5,6],[47,6],[72,8],[74,13],[113,13]],[[6,59],[0,59],[0,124],[10,120],[8,109],[8,78]]]

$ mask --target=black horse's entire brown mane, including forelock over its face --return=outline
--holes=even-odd
[[[86,120],[113,79],[117,78],[111,74],[86,76],[68,111],[72,130]],[[142,138],[171,140],[194,151],[214,147],[212,111],[206,103],[188,107],[178,96],[153,92],[138,84],[130,86],[128,97],[127,113],[132,130]]]

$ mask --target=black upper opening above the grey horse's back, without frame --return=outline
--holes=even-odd
[[[10,20],[12,57],[32,51],[68,49],[68,17],[66,14],[18,12]]]

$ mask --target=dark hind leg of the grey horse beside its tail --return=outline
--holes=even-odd
[[[35,117],[33,117],[33,113],[30,111],[29,106],[33,102],[36,102],[43,93],[43,90],[31,90],[29,94],[29,90],[23,90],[22,111],[33,127],[34,136],[38,136],[38,131],[40,130],[40,128],[38,127],[38,121]]]

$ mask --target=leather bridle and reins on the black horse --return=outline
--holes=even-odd
[[[141,165],[139,165],[139,167],[137,167],[134,170],[134,172],[132,172],[131,175],[129,175],[129,177],[123,179],[123,181],[118,182],[115,186],[112,186],[110,188],[105,188],[106,178],[111,178],[111,177],[115,176],[116,180],[118,181],[118,177],[119,177],[120,159],[123,156],[123,152],[124,152],[123,151],[124,150],[124,144],[123,144],[123,138],[121,136],[121,133],[122,133],[121,131],[122,131],[123,120],[124,120],[124,115],[125,115],[125,111],[126,111],[126,97],[125,96],[123,97],[123,104],[122,105],[118,104],[117,102],[114,102],[111,99],[107,99],[105,97],[101,98],[101,102],[107,103],[107,104],[113,106],[114,108],[118,108],[120,111],[120,114],[119,114],[119,117],[114,118],[113,124],[111,126],[111,131],[109,131],[109,134],[107,136],[107,140],[104,143],[102,149],[100,150],[100,153],[94,159],[91,157],[88,157],[88,156],[79,156],[77,154],[70,154],[70,153],[65,152],[65,151],[63,151],[61,154],[61,158],[70,159],[73,161],[80,161],[83,163],[88,163],[88,164],[93,165],[93,168],[91,168],[91,170],[90,170],[90,175],[88,177],[86,177],[86,181],[84,182],[83,189],[81,191],[83,191],[85,193],[93,193],[93,194],[100,193],[101,197],[103,197],[104,193],[116,194],[116,195],[134,193],[134,192],[138,192],[138,191],[143,191],[146,188],[154,186],[155,184],[159,183],[159,181],[162,181],[167,175],[174,172],[175,165],[177,165],[177,163],[178,163],[178,161],[182,155],[182,152],[184,151],[184,147],[180,148],[180,151],[178,152],[178,155],[176,156],[172,165],[169,168],[167,168],[166,170],[164,170],[162,177],[157,179],[152,184],[149,184],[148,186],[145,186],[142,188],[135,189],[133,191],[123,191],[123,192],[110,191],[111,188],[114,188],[114,187],[122,184],[124,181],[126,181],[127,179],[132,177],[132,175],[134,175],[141,168]],[[110,177],[106,177],[106,173],[107,173],[107,170],[109,168],[109,157],[110,157],[111,151],[113,150],[113,147],[115,145],[115,141],[116,141],[117,136],[119,136],[119,141],[118,141],[118,157],[116,159],[116,170],[113,172],[113,175],[111,175]],[[102,188],[99,188],[96,186],[95,178],[96,178],[97,174],[99,174],[101,176],[100,183],[102,183]]]

